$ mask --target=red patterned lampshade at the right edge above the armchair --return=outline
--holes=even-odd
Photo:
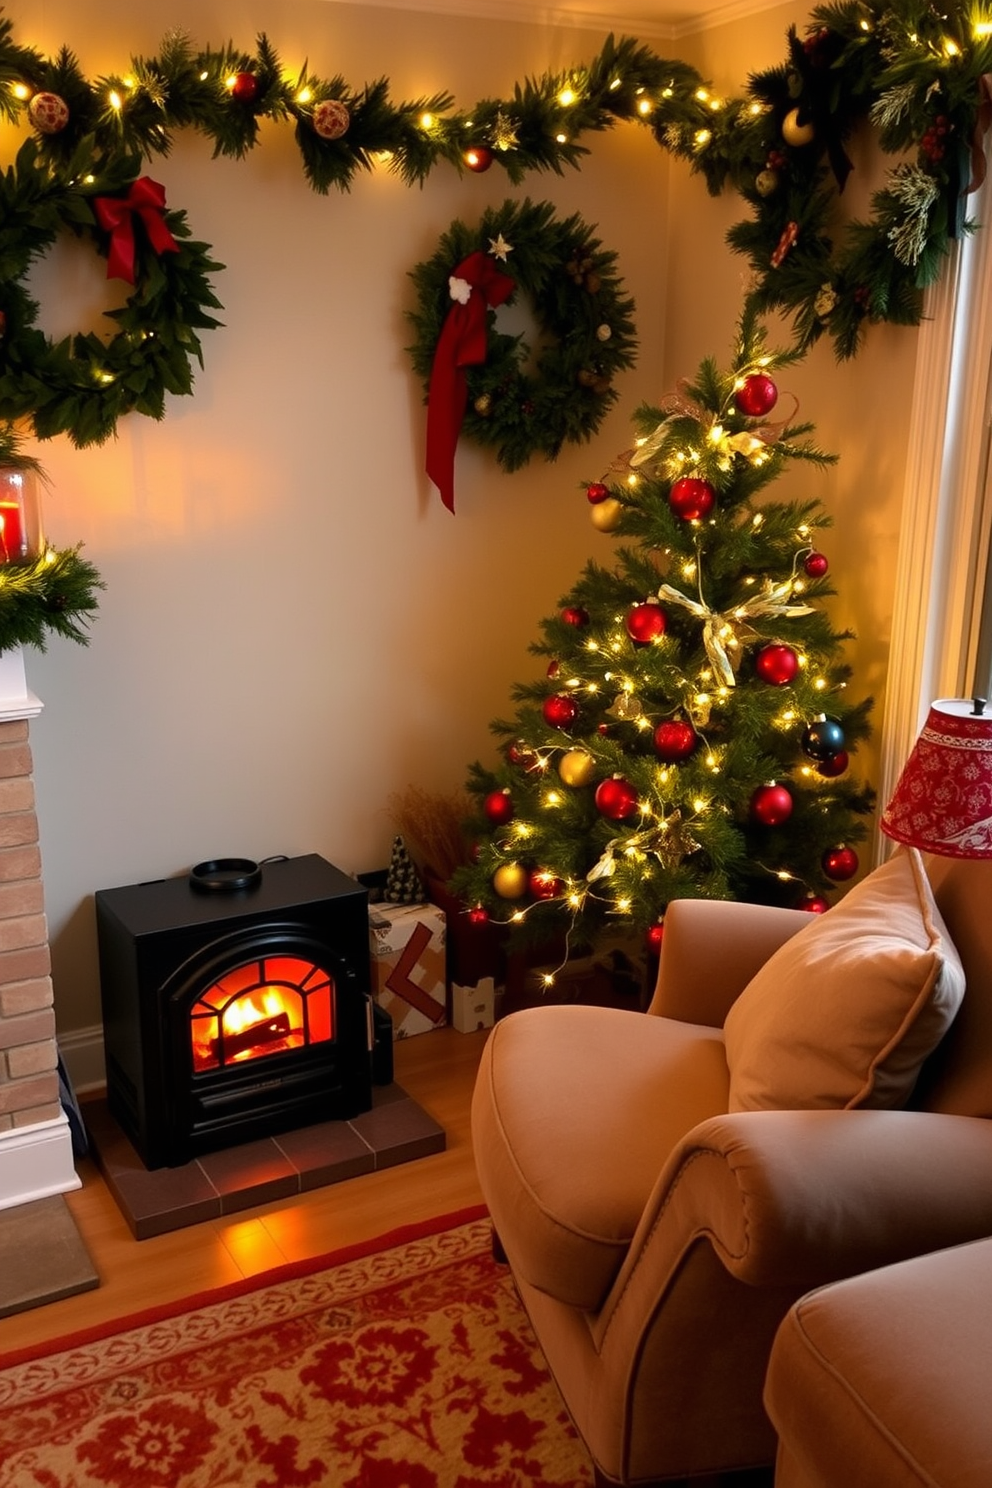
[[[941,698],[906,760],[880,827],[941,857],[992,857],[992,713]]]

